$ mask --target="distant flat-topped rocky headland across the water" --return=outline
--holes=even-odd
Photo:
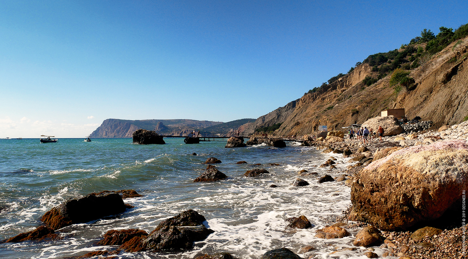
[[[214,126],[222,122],[196,120],[104,120],[90,137],[132,137],[138,129],[163,131],[174,135],[187,134],[195,129]]]

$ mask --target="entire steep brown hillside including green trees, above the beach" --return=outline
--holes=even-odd
[[[274,121],[281,123],[275,133],[310,134],[319,125],[341,129],[391,108],[405,108],[409,117],[431,120],[434,127],[461,122],[468,115],[468,24],[439,29],[437,35],[424,29],[400,49],[369,55],[294,101],[287,116],[278,112],[285,107],[278,108],[276,117],[284,119]],[[265,116],[256,129],[273,124],[259,121]]]

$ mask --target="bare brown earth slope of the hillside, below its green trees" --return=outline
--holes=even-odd
[[[420,116],[433,121],[434,127],[459,123],[468,115],[468,37],[454,45],[434,55],[426,68],[411,72],[409,76],[415,79],[416,88],[410,91],[403,87],[395,93],[389,85],[390,75],[371,86],[364,85],[366,76],[376,78],[377,74],[362,64],[322,93],[305,94],[258,118],[255,128],[282,122],[276,134],[300,136],[313,133],[319,125],[336,130],[363,123],[392,108],[405,108],[409,118]]]

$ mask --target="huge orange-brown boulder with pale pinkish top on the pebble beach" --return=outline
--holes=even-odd
[[[351,187],[351,220],[382,230],[406,230],[461,215],[467,188],[468,143],[446,140],[394,151],[360,171]]]

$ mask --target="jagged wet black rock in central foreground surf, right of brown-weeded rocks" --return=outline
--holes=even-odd
[[[168,218],[143,240],[144,250],[167,250],[193,248],[193,242],[204,240],[214,231],[207,229],[203,222],[205,217],[194,210],[186,210],[177,216]],[[183,228],[190,226],[191,228]]]

